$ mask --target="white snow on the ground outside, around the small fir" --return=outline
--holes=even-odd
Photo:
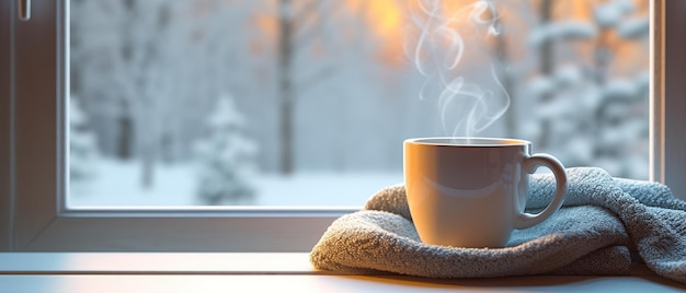
[[[72,183],[70,207],[197,206],[194,169],[190,165],[161,165],[155,185],[140,189],[140,165],[101,161],[96,177]],[[402,173],[297,173],[284,177],[261,175],[254,180],[256,206],[363,206],[382,187],[402,181]]]

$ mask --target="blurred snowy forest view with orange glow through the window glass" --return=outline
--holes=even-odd
[[[469,134],[647,179],[648,10],[71,0],[68,202],[361,206],[402,181],[404,139],[466,134],[451,81],[510,103]]]

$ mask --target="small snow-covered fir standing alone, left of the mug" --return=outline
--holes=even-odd
[[[207,120],[208,136],[196,144],[197,195],[203,204],[239,204],[254,200],[251,177],[256,144],[242,131],[244,119],[231,96],[217,99]]]

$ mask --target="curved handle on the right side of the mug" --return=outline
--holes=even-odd
[[[539,224],[558,211],[564,202],[564,196],[567,195],[567,172],[564,166],[554,156],[542,153],[533,154],[524,160],[524,169],[528,173],[534,173],[540,166],[548,167],[554,175],[557,181],[554,197],[548,207],[537,214],[519,213],[514,221],[515,228],[523,230]]]

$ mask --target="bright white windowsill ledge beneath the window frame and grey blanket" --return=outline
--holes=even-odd
[[[432,280],[315,270],[308,254],[0,253],[0,292],[683,292],[637,266],[629,276]]]

